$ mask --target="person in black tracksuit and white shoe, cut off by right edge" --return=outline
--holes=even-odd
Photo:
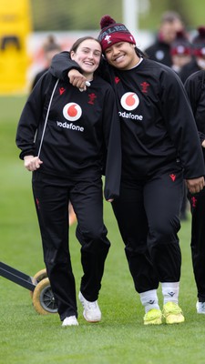
[[[205,161],[205,70],[188,77],[185,88],[200,132],[200,142]],[[188,195],[191,210],[191,257],[197,286],[197,312],[205,314],[205,188],[198,194]]]

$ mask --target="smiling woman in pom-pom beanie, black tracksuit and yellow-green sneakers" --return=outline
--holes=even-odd
[[[178,232],[184,178],[190,192],[204,186],[200,139],[179,76],[146,59],[125,25],[101,19],[98,39],[117,98],[122,139],[120,194],[112,206],[125,243],[128,267],[145,308],[144,324],[162,323],[161,283],[167,324],[184,321],[179,308],[181,253]],[[74,69],[76,68],[76,69]],[[51,72],[85,86],[67,53],[55,56]]]

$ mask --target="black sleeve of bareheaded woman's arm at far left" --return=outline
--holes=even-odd
[[[36,154],[36,132],[41,121],[44,119],[43,110],[46,100],[46,94],[49,90],[50,75],[47,73],[37,82],[30,96],[28,96],[26,105],[20,116],[15,143],[21,149],[19,157],[24,159],[25,156],[35,156]]]

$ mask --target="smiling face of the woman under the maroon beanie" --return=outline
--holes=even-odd
[[[135,52],[135,45],[128,42],[118,42],[105,51],[109,65],[121,70],[128,70],[138,64],[139,58]]]

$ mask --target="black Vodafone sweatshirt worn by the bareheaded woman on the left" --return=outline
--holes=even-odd
[[[56,80],[46,73],[26,101],[16,132],[22,159],[38,155]],[[115,95],[108,82],[95,76],[87,91],[80,92],[68,79],[59,80],[39,157],[43,161],[42,173],[62,178],[95,178],[105,169],[105,197],[118,197],[120,124]]]

